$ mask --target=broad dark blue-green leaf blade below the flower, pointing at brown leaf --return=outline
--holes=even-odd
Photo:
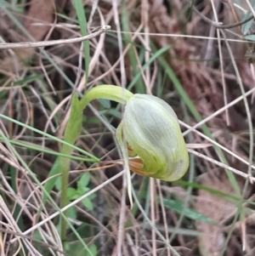
[[[158,202],[160,202],[160,199],[158,198]],[[199,220],[201,222],[209,223],[209,224],[215,224],[215,221],[208,218],[207,216],[197,213],[190,208],[184,208],[184,204],[179,201],[173,201],[171,199],[163,199],[164,206],[168,209],[173,210],[177,213],[182,213],[184,211],[184,216],[190,219]]]

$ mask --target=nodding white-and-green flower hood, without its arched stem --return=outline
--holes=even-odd
[[[173,181],[183,177],[189,167],[178,118],[172,107],[156,96],[133,94],[127,100],[116,139],[122,153],[135,156],[128,163],[137,174]]]

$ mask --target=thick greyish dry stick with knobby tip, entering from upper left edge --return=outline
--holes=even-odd
[[[34,47],[46,47],[57,44],[68,44],[68,43],[81,43],[86,40],[90,40],[94,37],[99,36],[105,31],[111,29],[111,26],[100,26],[97,31],[91,33],[84,37],[76,37],[71,39],[59,39],[59,40],[50,40],[50,41],[40,41],[40,42],[24,42],[24,43],[0,43],[0,49],[4,48],[34,48]]]

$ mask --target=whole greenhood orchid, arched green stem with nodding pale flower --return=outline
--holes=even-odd
[[[116,139],[122,150],[131,205],[130,169],[137,174],[167,181],[180,179],[186,173],[189,155],[172,107],[155,96],[132,94],[125,88],[110,84],[99,85],[88,90],[81,100],[78,100],[77,94],[71,100],[71,113],[64,134],[66,144],[61,148],[63,156],[58,158],[51,174],[61,169],[61,208],[68,204],[66,191],[71,162],[64,155],[71,155],[71,145],[74,145],[81,132],[82,112],[89,102],[96,99],[114,100],[126,105],[122,122],[116,129]],[[54,186],[53,180],[50,179],[51,184],[47,184],[47,191]],[[65,231],[66,223],[63,220],[63,240]]]

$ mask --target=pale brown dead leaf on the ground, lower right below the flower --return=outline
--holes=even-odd
[[[218,179],[215,174],[207,173],[201,175],[201,185],[212,187],[217,191],[233,195],[234,191],[229,184],[229,180]],[[199,237],[199,250],[203,256],[218,256],[224,245],[224,225],[220,224],[231,213],[235,213],[235,206],[220,196],[204,190],[198,191],[195,202],[195,210],[212,219],[217,225],[210,225],[205,222],[196,221],[198,231],[202,233]]]

